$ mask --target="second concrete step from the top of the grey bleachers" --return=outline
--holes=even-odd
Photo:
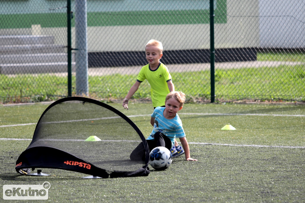
[[[66,53],[67,48],[63,45],[1,45],[0,55],[10,54],[36,54],[36,53]]]

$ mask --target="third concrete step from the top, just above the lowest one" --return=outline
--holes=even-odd
[[[72,61],[75,61],[74,53],[72,53]],[[67,53],[38,53],[38,54],[12,54],[0,55],[0,63],[52,63],[66,62]]]

